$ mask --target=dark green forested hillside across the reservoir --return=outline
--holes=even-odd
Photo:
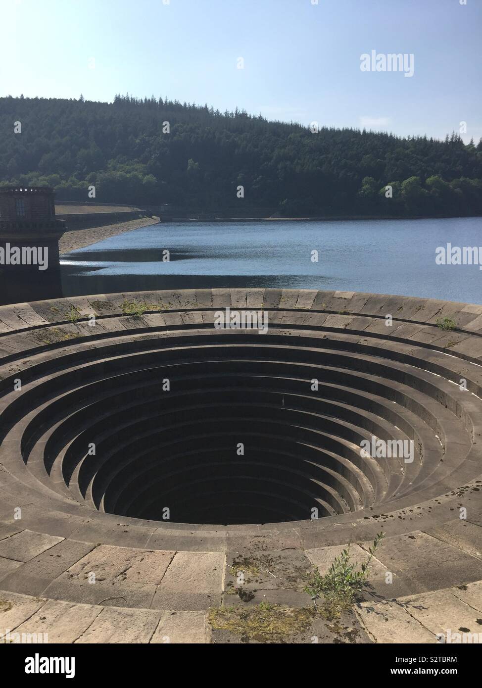
[[[93,184],[97,202],[188,212],[482,215],[482,140],[454,133],[399,138],[321,123],[314,133],[162,98],[8,96],[0,144],[1,184],[47,184],[57,200],[87,200]]]

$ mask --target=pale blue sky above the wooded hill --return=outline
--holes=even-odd
[[[0,94],[155,94],[439,138],[463,120],[479,140],[482,0],[312,1],[0,0]],[[371,50],[413,53],[414,76],[361,72]]]

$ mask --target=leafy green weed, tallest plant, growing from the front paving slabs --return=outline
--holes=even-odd
[[[356,601],[358,595],[368,585],[368,570],[384,533],[377,533],[373,545],[369,548],[368,559],[356,570],[357,565],[350,559],[350,546],[343,550],[339,557],[331,564],[325,574],[320,574],[318,568],[310,574],[305,592],[311,595],[316,605],[317,599],[322,599],[320,612],[327,619],[338,619],[341,612],[348,610]]]

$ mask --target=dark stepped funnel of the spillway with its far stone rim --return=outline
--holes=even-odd
[[[267,332],[219,329],[226,308]],[[186,290],[4,306],[0,324],[2,471],[42,508],[333,524],[479,491],[481,306]],[[361,451],[377,440],[404,451]]]

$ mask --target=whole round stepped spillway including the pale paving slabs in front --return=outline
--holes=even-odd
[[[220,327],[227,309],[257,326]],[[378,599],[472,599],[481,431],[482,305],[269,288],[4,305],[0,591],[47,620],[200,614],[204,638],[239,557],[271,572],[256,603],[305,605],[311,564],[383,531]]]

